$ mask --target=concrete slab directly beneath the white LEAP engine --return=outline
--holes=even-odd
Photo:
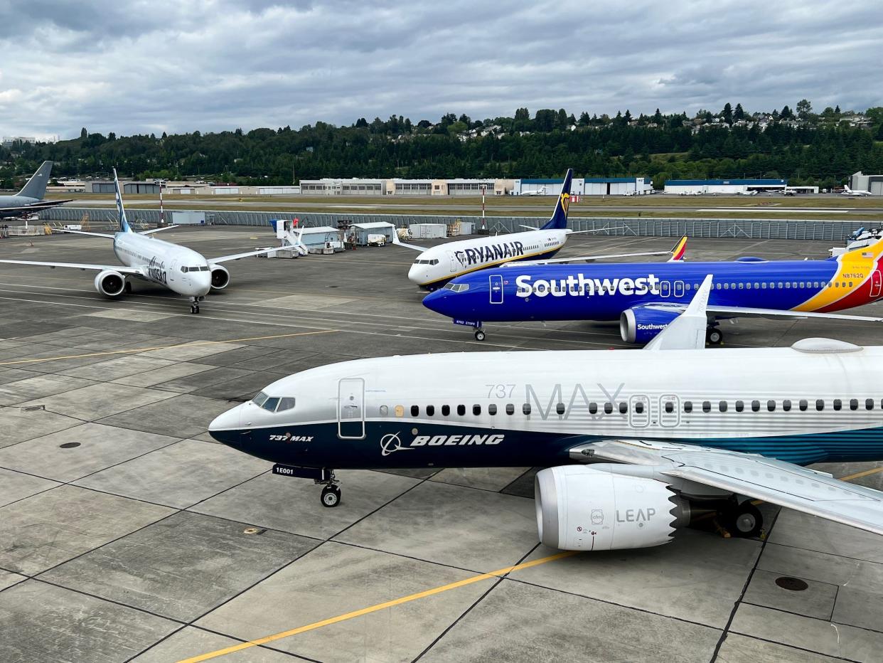
[[[534,537],[535,528],[534,522]],[[540,545],[528,559],[555,552]],[[628,553],[585,552],[526,568],[516,577],[526,583],[723,629],[759,552],[756,541],[680,530],[667,545]]]

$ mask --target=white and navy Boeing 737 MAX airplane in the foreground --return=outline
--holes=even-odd
[[[331,468],[553,466],[536,477],[537,525],[568,550],[666,544],[709,510],[753,536],[751,499],[883,534],[883,493],[800,467],[883,458],[883,347],[706,349],[711,286],[644,349],[341,362],[277,380],[208,430],[325,484],[327,507],[341,499]]]

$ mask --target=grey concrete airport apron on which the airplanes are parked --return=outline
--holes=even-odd
[[[222,255],[256,232],[166,237]],[[636,246],[670,240],[581,235],[562,256]],[[688,250],[829,247],[691,238]],[[109,256],[94,238],[0,240],[4,258],[72,250]],[[883,545],[865,532],[762,506],[766,538],[723,538],[707,522],[657,548],[555,558],[537,545],[535,468],[341,472],[344,500],[325,509],[310,482],[208,437],[232,404],[329,362],[624,347],[615,326],[566,323],[502,324],[493,345],[476,343],[420,305],[412,259],[378,248],[239,261],[200,316],[154,286],[105,301],[79,271],[0,266],[0,660],[879,660]],[[867,324],[736,330],[744,346],[879,343]],[[880,466],[816,468],[880,488]]]

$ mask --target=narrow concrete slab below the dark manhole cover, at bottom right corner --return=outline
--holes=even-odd
[[[883,633],[747,604],[736,610],[730,630],[849,660],[879,660],[883,648]]]

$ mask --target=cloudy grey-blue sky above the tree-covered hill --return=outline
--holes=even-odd
[[[0,134],[883,105],[883,4],[3,0]]]

